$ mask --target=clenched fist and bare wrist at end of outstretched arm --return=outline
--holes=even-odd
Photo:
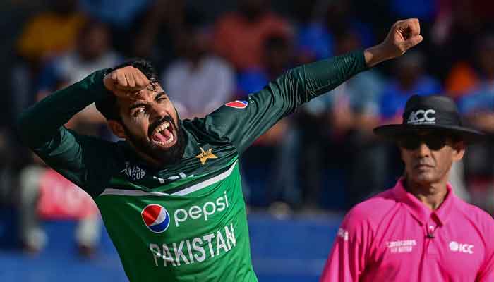
[[[418,19],[399,20],[392,25],[386,39],[375,47],[364,51],[368,66],[374,66],[381,61],[402,56],[408,49],[422,42],[420,23]]]

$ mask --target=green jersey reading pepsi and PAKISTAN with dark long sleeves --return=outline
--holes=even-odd
[[[130,281],[257,281],[239,156],[303,102],[366,69],[362,52],[293,68],[246,101],[181,121],[178,164],[155,168],[127,142],[78,135],[64,124],[103,99],[104,70],[50,95],[18,121],[24,142],[88,192]]]

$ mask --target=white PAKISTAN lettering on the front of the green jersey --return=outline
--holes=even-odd
[[[223,255],[236,246],[234,224],[195,238],[173,243],[150,243],[149,250],[155,266],[181,266],[204,262],[207,259]],[[161,259],[163,262],[161,262]]]

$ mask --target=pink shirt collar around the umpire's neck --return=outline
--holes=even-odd
[[[400,178],[392,192],[399,202],[402,202],[406,209],[409,210],[412,216],[421,224],[426,224],[430,221],[431,216],[433,219],[439,221],[441,226],[444,226],[447,220],[451,217],[454,202],[457,200],[456,195],[452,190],[452,186],[447,184],[447,195],[438,209],[435,211],[426,207],[425,204],[420,202],[414,195],[407,192],[403,185],[404,178]]]

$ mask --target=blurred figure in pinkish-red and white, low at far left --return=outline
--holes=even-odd
[[[37,253],[47,244],[47,235],[40,226],[40,211],[45,209],[48,213],[44,216],[50,219],[78,219],[78,251],[85,257],[93,255],[100,239],[101,222],[91,197],[37,157],[20,171],[19,178],[18,226],[23,250]]]

